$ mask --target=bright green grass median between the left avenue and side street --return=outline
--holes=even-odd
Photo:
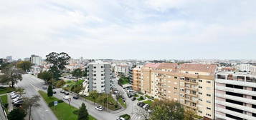
[[[41,94],[41,96],[44,98],[44,101],[46,101],[47,104],[49,104],[52,101],[57,101],[59,99],[55,98],[54,96],[52,96],[51,98],[49,98],[47,96],[47,93],[45,93],[44,91],[38,91],[39,94]],[[53,113],[57,116],[57,119],[60,120],[71,120],[71,119],[77,119],[77,115],[73,114],[73,111],[78,110],[77,108],[75,108],[74,106],[70,106],[69,104],[63,102],[63,103],[58,103],[57,106],[52,106],[50,107],[50,109],[52,109]],[[93,118],[93,116],[89,115],[89,119],[90,120],[95,120],[95,118]]]

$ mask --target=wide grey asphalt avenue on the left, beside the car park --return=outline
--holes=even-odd
[[[29,74],[24,74],[22,77],[22,81],[16,84],[16,86],[25,89],[26,94],[24,94],[24,96],[32,97],[33,95],[39,95],[37,92],[39,89],[37,87],[42,86],[43,81],[41,79],[34,78]],[[37,108],[32,107],[33,120],[57,120],[56,116],[52,113],[42,98],[40,99],[39,104],[40,106]]]

